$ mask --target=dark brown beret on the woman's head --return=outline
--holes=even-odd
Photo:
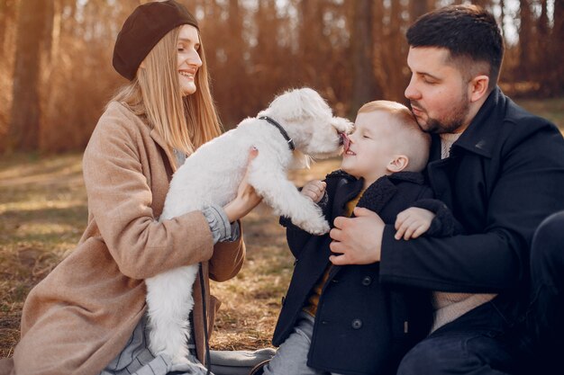
[[[183,24],[198,28],[196,17],[174,0],[138,6],[117,34],[112,61],[114,69],[131,81],[143,59],[159,40],[168,31]]]

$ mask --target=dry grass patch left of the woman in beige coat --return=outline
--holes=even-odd
[[[19,339],[23,300],[86,226],[79,155],[0,161],[0,357]]]

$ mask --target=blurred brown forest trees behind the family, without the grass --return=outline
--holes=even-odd
[[[223,126],[288,87],[311,86],[354,119],[377,98],[405,102],[405,30],[445,0],[181,0],[196,14]],[[124,79],[117,32],[140,0],[0,0],[0,152],[82,150]],[[468,2],[466,2],[468,3]],[[564,94],[564,1],[479,0],[505,35],[501,86]]]

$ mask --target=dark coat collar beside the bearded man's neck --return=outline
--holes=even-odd
[[[456,154],[456,148],[460,147],[481,156],[492,157],[493,148],[498,139],[500,122],[503,121],[503,112],[507,98],[499,87],[496,87],[482,104],[470,125],[460,135],[460,138],[452,145],[452,151]],[[438,136],[436,137],[438,138]],[[437,139],[434,139],[436,147]],[[439,146],[441,142],[438,142]],[[451,153],[452,153],[451,151]],[[451,154],[452,155],[452,154]],[[435,154],[432,154],[433,159]]]

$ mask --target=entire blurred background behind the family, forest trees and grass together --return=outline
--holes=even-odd
[[[225,129],[275,94],[311,86],[354,120],[362,103],[405,103],[405,30],[447,0],[179,0],[196,14]],[[114,72],[117,32],[139,0],[0,0],[0,357],[13,354],[23,301],[86,227],[81,156]],[[500,85],[564,129],[564,0],[480,0],[504,32]],[[293,173],[296,184],[338,160]],[[247,261],[213,283],[214,349],[268,346],[293,259],[260,205],[243,220]]]

